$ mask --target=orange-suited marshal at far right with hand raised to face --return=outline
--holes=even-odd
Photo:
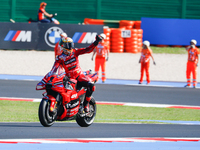
[[[186,78],[187,84],[185,87],[190,87],[191,80],[190,75],[193,75],[193,87],[196,88],[197,85],[197,66],[199,61],[199,49],[196,47],[197,41],[191,40],[190,46],[186,47],[186,51],[188,52],[188,61],[187,61],[187,68],[186,68]]]

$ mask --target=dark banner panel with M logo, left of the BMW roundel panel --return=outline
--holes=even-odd
[[[0,23],[1,49],[35,49],[38,43],[37,24]]]

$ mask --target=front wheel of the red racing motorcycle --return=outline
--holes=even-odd
[[[54,124],[57,113],[50,112],[50,101],[43,99],[40,102],[38,116],[39,116],[40,123],[44,127],[50,127]]]

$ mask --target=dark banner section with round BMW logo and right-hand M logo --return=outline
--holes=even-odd
[[[60,34],[65,32],[74,41],[77,48],[89,46],[97,34],[103,33],[101,25],[78,25],[78,24],[38,24],[39,42],[37,49],[49,50],[55,47],[60,40]]]

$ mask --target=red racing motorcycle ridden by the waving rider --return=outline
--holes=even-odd
[[[91,70],[84,72],[92,82],[97,81],[97,74]],[[66,89],[70,95],[70,102],[66,103],[59,90]],[[81,127],[90,126],[96,116],[96,102],[94,97],[89,102],[89,112],[85,113],[83,102],[87,89],[77,84],[77,80],[69,79],[63,68],[59,67],[56,73],[49,72],[36,86],[36,90],[46,90],[39,105],[38,116],[44,127],[50,127],[55,121],[76,120]]]

